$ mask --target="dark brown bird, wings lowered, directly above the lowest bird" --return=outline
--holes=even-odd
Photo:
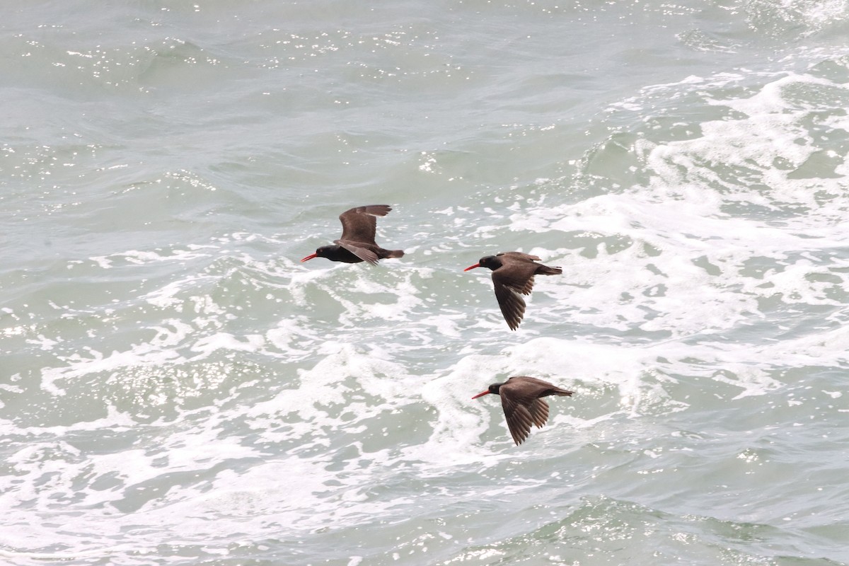
[[[525,317],[525,300],[519,294],[531,294],[533,276],[559,275],[563,272],[559,267],[543,266],[536,255],[522,254],[518,251],[505,251],[503,254],[487,255],[474,266],[466,267],[463,271],[475,267],[492,269],[492,283],[495,284],[495,298],[501,307],[501,314],[507,321],[510,330],[519,328],[519,323]]]

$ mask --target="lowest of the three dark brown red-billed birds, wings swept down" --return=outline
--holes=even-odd
[[[542,429],[548,421],[548,403],[542,397],[548,395],[571,396],[572,391],[560,389],[557,385],[549,384],[542,379],[529,378],[524,375],[509,378],[503,384],[492,384],[486,391],[472,397],[492,393],[501,395],[501,407],[507,417],[507,426],[516,446],[519,446],[531,434],[531,424]]]

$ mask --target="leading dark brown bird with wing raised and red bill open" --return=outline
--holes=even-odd
[[[312,260],[313,257],[326,257],[330,261],[359,263],[368,261],[373,266],[378,260],[387,257],[402,257],[400,249],[383,249],[374,243],[374,232],[377,228],[375,216],[386,216],[392,210],[389,205],[357,206],[339,215],[342,221],[342,236],[334,240],[336,245],[322,246],[316,253],[307,255],[301,261]]]

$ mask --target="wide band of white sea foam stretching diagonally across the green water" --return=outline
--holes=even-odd
[[[108,417],[70,427],[0,422],[4,434],[24,435],[33,443],[10,455],[15,474],[0,478],[0,506],[14,517],[14,525],[0,534],[4,545],[41,548],[44,541],[56,541],[56,527],[44,519],[61,515],[68,523],[57,542],[79,552],[34,556],[80,558],[90,556],[86,549],[110,541],[121,546],[88,552],[109,556],[118,548],[137,558],[140,554],[143,561],[178,541],[224,556],[233,533],[244,533],[245,539],[269,531],[297,538],[318,529],[397,518],[403,513],[398,509],[419,509],[419,494],[406,485],[408,477],[413,484],[432,480],[425,485],[445,490],[452,501],[472,490],[515,498],[529,486],[542,485],[548,474],[516,474],[507,485],[482,488],[453,479],[518,460],[518,455],[531,455],[523,463],[532,466],[539,462],[532,457],[537,448],[569,450],[579,444],[571,434],[560,433],[578,430],[582,439],[593,439],[604,434],[596,429],[604,429],[606,421],[654,423],[657,419],[644,417],[689,406],[690,393],[682,393],[688,388],[681,387],[689,378],[710,379],[734,401],[786,387],[775,377],[778,368],[846,367],[849,330],[841,325],[842,301],[833,292],[835,286],[846,287],[849,261],[829,259],[833,250],[845,247],[845,179],[789,174],[823,149],[806,129],[809,105],[799,103],[798,93],[791,91],[844,89],[813,79],[740,73],[647,87],[616,111],[650,112],[665,96],[680,104],[687,101],[684,95],[711,92],[717,85],[767,81],[746,98],[714,96],[711,104],[722,119],[692,125],[698,127],[690,139],[670,142],[646,135],[635,143],[634,159],[643,160],[650,171],[643,184],[575,203],[571,194],[558,195],[571,178],[536,179],[533,190],[547,195],[518,205],[518,198],[504,196],[505,189],[500,203],[487,199],[487,204],[509,205],[492,205],[481,224],[475,219],[486,209],[455,205],[441,210],[452,221],[438,227],[448,235],[441,234],[425,250],[432,262],[428,268],[400,261],[377,270],[329,262],[316,268],[285,258],[257,261],[251,255],[255,249],[223,249],[233,242],[269,243],[250,233],[221,238],[220,248],[187,246],[171,255],[149,251],[92,258],[102,269],[138,268],[202,259],[217,248],[237,267],[168,280],[144,294],[139,302],[152,314],[143,323],[151,336],[143,344],[69,355],[48,334],[33,333],[34,349],[60,365],[42,371],[43,388],[57,396],[57,405],[67,402],[59,396],[73,379],[102,375],[105,384],[115,385],[127,373],[155,373],[211,358],[261,362],[254,366],[257,375],[245,372],[233,393],[201,399],[195,412],[179,400],[161,401],[170,402],[179,415],[160,417],[152,425],[114,406],[108,407]],[[846,129],[840,117],[819,124]],[[786,165],[775,166],[777,160]],[[433,160],[428,171],[438,172],[438,165]],[[737,167],[751,179],[720,175],[722,166]],[[849,160],[835,171],[846,175]],[[815,184],[835,198],[817,199]],[[792,213],[788,203],[807,209]],[[760,205],[776,216],[737,212],[730,205]],[[566,238],[573,233],[582,233],[588,246],[595,242],[594,249],[582,255],[567,247],[574,245]],[[457,262],[458,250],[475,249],[476,259],[484,240],[526,237],[525,249],[548,265],[563,266],[564,276],[537,278],[528,299],[529,320],[510,333],[489,277],[452,278],[445,270]],[[462,263],[458,269],[468,265]],[[267,276],[267,281],[251,280],[249,287],[268,288],[261,293],[281,305],[279,320],[239,325],[241,311],[213,300],[205,289],[216,288],[233,270],[246,277]],[[446,302],[457,304],[443,304],[440,293],[427,296],[420,283],[424,279],[444,285]],[[334,320],[300,314],[290,309],[292,303],[324,309]],[[774,341],[745,332],[757,323],[787,322],[781,313],[785,305],[835,309],[816,332]],[[486,311],[486,317],[475,309]],[[240,333],[237,328],[249,329]],[[30,331],[4,330],[10,338],[30,336]],[[274,369],[263,373],[262,361]],[[209,379],[193,376],[185,391],[200,397],[205,389],[216,390],[230,377],[226,370]],[[576,395],[553,400],[547,427],[534,429],[528,444],[516,447],[498,398],[473,401],[471,395],[520,374],[574,388]],[[138,381],[121,385],[132,390]],[[2,390],[26,392],[18,385]],[[596,402],[599,398],[604,403]],[[160,398],[145,402],[155,405]],[[77,448],[67,438],[104,430],[132,431],[135,444],[101,453]],[[387,435],[391,440],[384,440]],[[640,453],[651,458],[661,452]],[[398,485],[381,491],[386,479]],[[154,485],[164,490],[156,493]],[[77,499],[65,502],[48,494]],[[122,506],[134,511],[121,512]],[[78,518],[72,517],[75,513]]]

